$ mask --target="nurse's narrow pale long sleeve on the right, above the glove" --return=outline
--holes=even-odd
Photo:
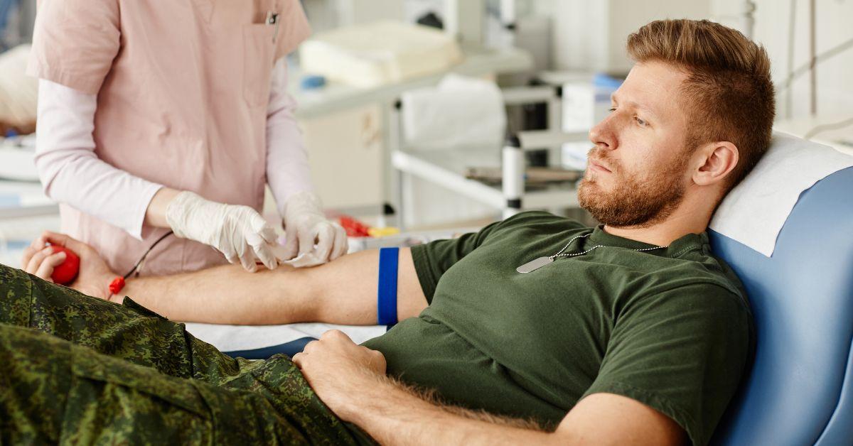
[[[287,94],[287,58],[276,61],[272,72],[270,105],[267,108],[267,182],[284,215],[287,198],[297,192],[312,191],[308,153],[302,131],[293,113],[296,101]]]

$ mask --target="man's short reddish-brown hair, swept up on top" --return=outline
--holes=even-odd
[[[631,34],[627,49],[635,62],[660,61],[688,73],[686,144],[734,143],[740,159],[727,183],[733,188],[770,145],[775,98],[764,48],[709,20],[656,20]]]

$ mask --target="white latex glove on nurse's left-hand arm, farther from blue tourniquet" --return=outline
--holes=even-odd
[[[183,191],[166,206],[165,220],[178,237],[213,246],[232,264],[239,258],[247,271],[258,269],[256,257],[269,269],[278,266],[276,230],[249,206],[224,205]]]

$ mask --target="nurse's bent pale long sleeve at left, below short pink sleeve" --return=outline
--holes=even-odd
[[[134,177],[95,154],[97,96],[38,81],[36,168],[52,200],[142,240],[148,203],[163,186]]]

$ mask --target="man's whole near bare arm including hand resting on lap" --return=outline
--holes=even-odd
[[[512,426],[418,397],[386,378],[385,357],[329,331],[293,362],[323,403],[381,444],[661,444],[687,442],[664,414],[629,397],[584,397],[554,432]],[[500,397],[500,395],[495,395]]]

